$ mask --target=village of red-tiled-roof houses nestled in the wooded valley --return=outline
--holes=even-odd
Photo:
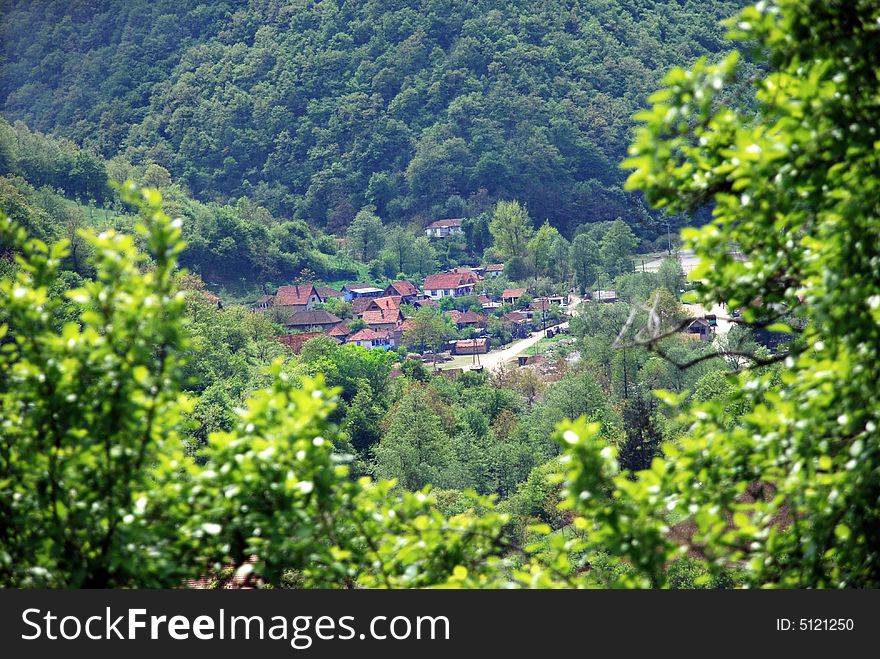
[[[460,235],[461,220],[435,221],[425,234],[435,241]],[[504,269],[503,263],[459,266],[428,275],[420,286],[406,279],[339,288],[298,282],[261,296],[252,310],[283,327],[286,332],[276,340],[296,354],[308,341],[329,337],[339,344],[395,351],[401,360],[420,360],[455,377],[463,370],[492,370],[513,362],[544,365],[538,344],[567,334],[578,305],[618,301],[613,290],[579,296],[560,284],[551,294],[533,295],[522,282],[490,286],[504,277]],[[684,334],[711,340],[718,329],[716,315],[702,307],[688,311],[694,320]]]

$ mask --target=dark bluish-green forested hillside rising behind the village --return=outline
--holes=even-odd
[[[420,223],[516,198],[570,236],[647,220],[631,117],[742,4],[4,0],[0,107],[335,232],[367,204]]]

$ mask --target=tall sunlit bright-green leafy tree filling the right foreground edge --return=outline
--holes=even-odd
[[[691,275],[700,301],[725,300],[744,308],[743,323],[794,337],[732,377],[750,414],[731,427],[726,404],[694,405],[688,435],[635,482],[615,475],[595,427],[566,431],[579,456],[569,504],[598,530],[594,547],[632,567],[625,583],[663,584],[683,544],[713,576],[748,566],[751,586],[880,585],[875,19],[873,2],[749,7],[729,26],[767,57],[754,105],[719,102],[739,84],[734,53],[672,71],[640,115],[629,187],[673,213],[715,204],[708,226],[683,233],[702,259]],[[784,326],[789,314],[803,329]],[[783,360],[781,379],[762,368]],[[611,492],[613,504],[580,503],[583,491]],[[693,532],[670,538],[670,515]]]

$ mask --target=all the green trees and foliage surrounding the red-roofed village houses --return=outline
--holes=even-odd
[[[880,585],[880,8],[739,5],[3,2],[0,585]]]

